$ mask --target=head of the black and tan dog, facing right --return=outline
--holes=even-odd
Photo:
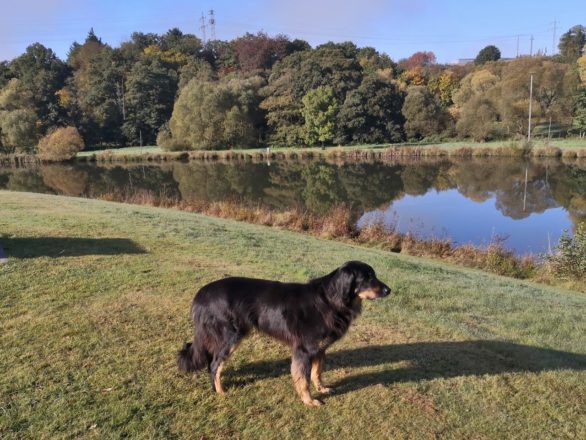
[[[391,289],[376,277],[368,264],[349,261],[332,272],[328,293],[330,297],[349,304],[356,298],[384,298]]]

